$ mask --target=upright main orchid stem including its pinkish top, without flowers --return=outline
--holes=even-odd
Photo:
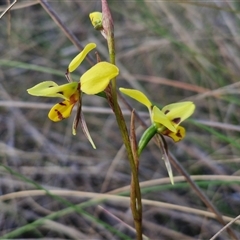
[[[115,39],[114,39],[114,24],[111,15],[111,11],[108,7],[107,0],[101,0],[102,2],[102,26],[105,33],[105,38],[108,44],[108,52],[110,63],[115,64]],[[129,160],[129,164],[131,167],[131,194],[130,194],[130,206],[132,210],[132,215],[134,218],[134,224],[137,231],[137,239],[142,240],[142,198],[141,198],[141,190],[139,186],[139,178],[138,178],[138,168],[136,166],[137,159],[134,156],[134,149],[132,149],[127,126],[125,119],[122,114],[122,109],[118,104],[117,98],[117,87],[116,87],[116,78],[111,80],[111,84],[109,86],[110,94],[107,94],[107,99],[110,106],[115,113],[117,124],[122,136],[122,140],[126,147],[126,152]],[[137,152],[137,151],[136,151]]]

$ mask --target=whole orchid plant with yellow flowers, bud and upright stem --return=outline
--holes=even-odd
[[[142,204],[138,179],[139,156],[153,137],[156,137],[158,142],[160,142],[160,147],[163,141],[163,159],[165,160],[170,181],[173,184],[172,169],[168,160],[166,142],[163,136],[172,138],[174,142],[182,140],[185,136],[185,128],[180,126],[180,123],[193,114],[195,105],[190,101],[179,102],[169,104],[160,110],[157,106],[152,104],[147,96],[141,91],[136,89],[120,88],[120,91],[123,94],[145,105],[149,111],[151,125],[143,133],[137,145],[134,131],[134,114],[132,115],[131,132],[129,135],[125,119],[118,104],[116,77],[119,74],[119,69],[115,66],[114,27],[107,0],[102,0],[102,13],[93,12],[90,13],[89,17],[93,27],[96,30],[101,31],[107,41],[110,58],[109,62],[98,61],[80,77],[79,81],[72,81],[71,73],[78,68],[78,66],[86,58],[87,54],[96,48],[95,43],[89,43],[70,62],[66,72],[66,77],[69,81],[68,83],[58,85],[53,81],[44,81],[32,88],[29,88],[27,91],[33,96],[57,97],[63,99],[63,101],[54,105],[49,111],[48,117],[54,122],[59,122],[68,118],[71,115],[73,107],[77,105],[77,114],[73,122],[72,133],[76,135],[76,129],[78,123],[80,122],[83,132],[92,144],[93,148],[96,147],[90,136],[81,111],[82,95],[83,93],[88,95],[98,95],[105,91],[104,96],[116,116],[116,121],[126,147],[132,172],[130,194],[131,209],[137,231],[137,239],[142,239]]]

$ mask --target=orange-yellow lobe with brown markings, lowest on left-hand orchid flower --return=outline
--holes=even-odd
[[[70,103],[67,100],[57,103],[49,111],[48,117],[53,122],[59,122],[65,118],[68,118],[71,115],[74,104],[75,103]]]

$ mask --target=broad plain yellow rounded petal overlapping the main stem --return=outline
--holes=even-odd
[[[115,65],[99,62],[81,76],[81,90],[86,94],[100,93],[118,73],[119,70]]]

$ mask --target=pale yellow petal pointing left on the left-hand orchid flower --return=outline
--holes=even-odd
[[[60,97],[69,100],[70,97],[77,91],[77,89],[77,82],[71,82],[59,86],[53,81],[46,81],[27,89],[27,92],[33,96]]]

